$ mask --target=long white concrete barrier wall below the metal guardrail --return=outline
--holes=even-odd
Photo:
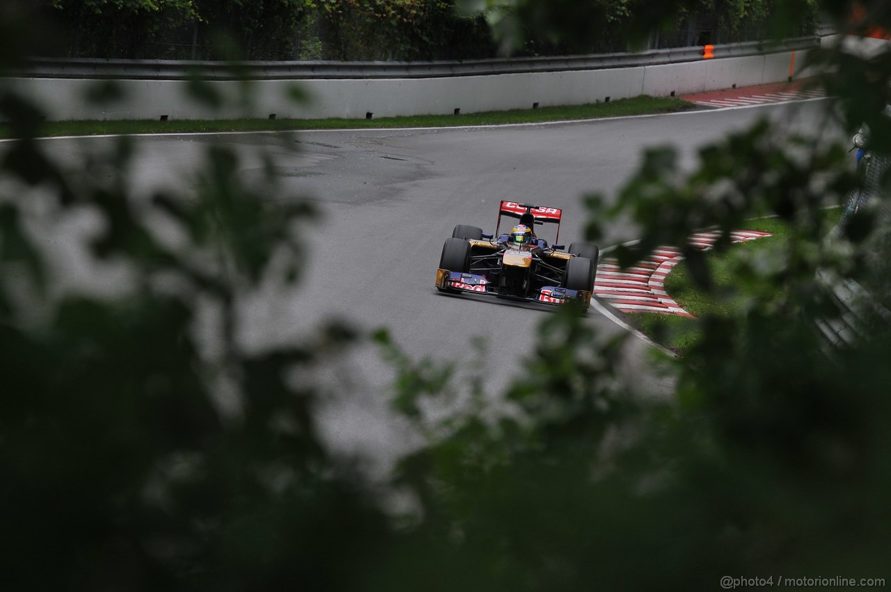
[[[795,52],[795,67],[806,51]],[[32,95],[48,119],[364,119],[397,115],[452,114],[528,109],[539,106],[596,103],[638,95],[683,95],[736,86],[781,82],[789,76],[792,52],[733,57],[701,62],[607,70],[576,70],[462,76],[454,78],[368,78],[315,80],[256,80],[250,83],[252,103],[215,111],[196,103],[181,80],[119,80],[125,99],[119,103],[89,103],[86,94],[96,83],[86,79],[10,78],[13,86]],[[206,83],[238,104],[245,83]],[[298,85],[312,97],[309,104],[291,101]]]

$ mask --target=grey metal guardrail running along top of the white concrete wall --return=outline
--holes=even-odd
[[[811,49],[820,37],[715,45],[715,59]],[[339,78],[452,78],[571,70],[634,68],[703,59],[701,46],[637,53],[600,53],[561,57],[510,58],[467,62],[178,62],[34,58],[5,76],[183,80],[299,80]]]

